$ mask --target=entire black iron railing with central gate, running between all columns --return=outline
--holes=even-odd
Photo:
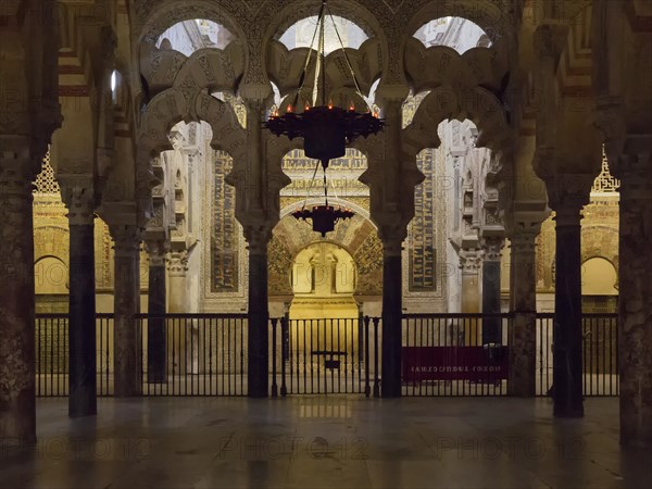
[[[403,396],[505,396],[509,314],[403,316]],[[553,314],[537,314],[537,394],[552,386]],[[143,396],[246,396],[247,316],[136,317]],[[584,393],[618,394],[615,314],[584,315]],[[36,393],[68,394],[66,314],[36,316]],[[114,393],[114,324],[98,314],[98,396]],[[269,321],[271,394],[379,396],[383,323],[378,317]]]

